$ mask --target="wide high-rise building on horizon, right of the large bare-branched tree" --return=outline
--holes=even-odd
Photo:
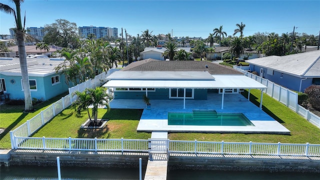
[[[95,26],[79,26],[79,36],[80,38],[87,38],[88,34],[94,34],[95,38],[101,37],[117,37],[118,29],[113,27],[95,27]]]

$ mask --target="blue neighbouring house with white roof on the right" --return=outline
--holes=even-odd
[[[312,84],[320,85],[320,50],[284,56],[266,56],[246,60],[251,71],[296,91]]]

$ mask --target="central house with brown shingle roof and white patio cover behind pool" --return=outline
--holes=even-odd
[[[144,59],[113,72],[103,86],[113,88],[114,99],[197,99],[207,93],[239,93],[266,86],[231,67],[208,61]],[[185,103],[185,102],[183,102]],[[223,102],[222,102],[223,108]]]

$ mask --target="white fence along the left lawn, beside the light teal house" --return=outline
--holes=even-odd
[[[96,75],[93,79],[89,79],[81,84],[69,88],[69,94],[62,97],[60,100],[54,102],[46,109],[42,110],[40,113],[36,114],[31,119],[27,120],[25,123],[17,127],[16,129],[10,131],[11,148],[13,148],[13,136],[18,137],[28,137],[40,127],[42,127],[46,122],[51,120],[56,114],[61,112],[63,109],[71,105],[75,97],[72,97],[72,92],[78,90],[83,91],[86,87],[94,88],[100,86],[106,81],[106,77],[114,72],[114,69],[110,69],[107,73],[100,73]],[[19,143],[23,139],[15,139]]]

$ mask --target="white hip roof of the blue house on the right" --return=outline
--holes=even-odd
[[[320,76],[320,50],[284,56],[266,56],[246,62],[301,77]]]

